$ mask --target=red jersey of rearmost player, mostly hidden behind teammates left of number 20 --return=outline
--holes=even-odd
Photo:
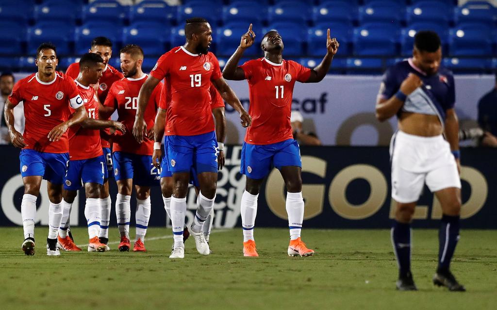
[[[69,66],[66,70],[66,75],[70,76],[71,78],[78,78],[78,75],[80,74],[80,63],[74,63]],[[98,85],[98,100],[103,104],[105,102],[105,97],[107,96],[107,93],[109,92],[110,86],[115,81],[120,80],[121,78],[124,78],[123,74],[120,73],[117,69],[114,67],[110,66],[107,64],[105,66],[105,69],[102,72],[102,77],[100,78],[99,85]],[[106,120],[110,120],[110,116],[107,117]],[[107,137],[110,135],[110,129],[104,129],[106,134],[103,134],[101,136],[101,142],[102,142],[102,148],[110,148],[110,143],[106,140]]]

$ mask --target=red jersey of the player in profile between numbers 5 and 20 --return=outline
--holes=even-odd
[[[84,108],[89,118],[98,119],[98,98],[91,86],[83,86],[75,81],[83,99]],[[81,160],[103,155],[100,142],[100,130],[82,128],[76,125],[69,128],[69,159]]]

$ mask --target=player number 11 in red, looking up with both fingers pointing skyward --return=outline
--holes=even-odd
[[[290,228],[288,255],[310,256],[300,238],[304,219],[302,198],[302,177],[300,150],[293,139],[290,114],[292,94],[296,81],[313,83],[321,81],[330,69],[331,60],[338,49],[336,39],[327,37],[327,54],[321,64],[314,69],[305,68],[294,61],[283,59],[283,39],[275,30],[264,35],[261,49],[264,57],[250,60],[238,66],[245,49],[253,44],[255,34],[252,24],[242,36],[240,46],[228,60],[223,71],[227,79],[248,80],[252,126],[247,129],[242,147],[240,172],[247,176],[245,192],[242,196],[241,215],[244,233],[244,255],[258,256],[253,228],[257,213],[257,197],[260,185],[272,166],[278,168],[288,191],[286,210]]]

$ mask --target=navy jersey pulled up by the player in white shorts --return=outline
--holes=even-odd
[[[423,84],[407,96],[397,116],[401,112],[437,115],[443,125],[446,111],[452,109],[455,103],[454,77],[447,69],[440,68],[438,73],[427,76],[414,66],[412,58],[398,62],[385,72],[378,97],[391,98],[399,91],[402,82],[410,73],[418,76]]]

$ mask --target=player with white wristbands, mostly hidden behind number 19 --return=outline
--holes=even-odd
[[[212,98],[212,114],[214,115],[214,119],[216,120],[216,138],[219,148],[219,154],[217,160],[218,160],[218,168],[219,170],[221,170],[225,163],[224,139],[226,137],[226,117],[225,117],[224,101],[213,84],[211,84],[211,86],[209,87],[209,93]],[[152,155],[152,162],[158,169],[161,169],[162,199],[164,200],[164,208],[166,209],[167,216],[171,218],[170,211],[171,211],[171,195],[172,195],[172,173],[167,168],[167,160],[162,160],[163,154],[161,150],[161,144],[164,138],[164,129],[166,124],[166,111],[167,111],[167,106],[169,105],[169,101],[170,101],[170,94],[166,94],[165,91],[163,91],[154,126],[155,143],[154,143],[154,154]],[[190,183],[193,186],[195,186],[195,193],[197,194],[197,205],[198,205],[200,203],[198,199],[199,198],[198,194],[200,192],[200,185],[198,183],[195,167],[190,168]],[[214,220],[214,209],[211,209],[211,212],[207,216],[207,219],[205,220],[204,225],[202,227],[202,233],[204,234],[205,241],[207,241],[208,244],[209,244],[209,237],[211,233],[213,220]],[[188,238],[188,236],[189,233],[185,225],[183,229],[183,242]]]

